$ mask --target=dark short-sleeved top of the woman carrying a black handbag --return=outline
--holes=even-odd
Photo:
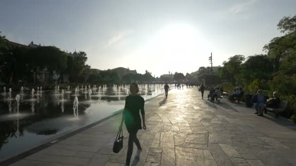
[[[144,104],[144,98],[139,95],[129,95],[126,97],[126,104],[124,106],[124,118],[127,127],[142,129],[139,110],[141,110],[142,115],[145,115]]]

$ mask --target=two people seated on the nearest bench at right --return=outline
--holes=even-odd
[[[273,93],[273,98],[271,100],[267,101],[267,97],[262,93],[262,90],[259,89],[257,91],[257,94],[255,94],[251,102],[254,104],[256,112],[254,114],[257,114],[258,116],[263,116],[263,111],[266,114],[266,107],[269,108],[277,108],[277,106],[280,103],[280,99],[278,97],[278,93]]]

